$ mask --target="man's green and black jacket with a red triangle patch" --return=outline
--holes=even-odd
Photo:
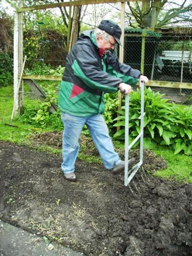
[[[110,51],[102,54],[93,31],[84,31],[68,54],[59,93],[59,108],[75,116],[102,114],[104,93],[115,93],[121,82],[135,85],[140,71],[119,63]]]

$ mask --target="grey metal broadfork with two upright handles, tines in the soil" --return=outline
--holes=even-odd
[[[144,86],[145,83],[141,81],[140,89],[141,89],[141,115],[140,115],[140,133],[138,136],[131,142],[129,145],[129,94],[125,94],[125,171],[124,171],[124,185],[129,186],[130,190],[133,193],[133,190],[131,189],[130,182],[141,167],[143,175],[146,176],[145,171],[143,169],[143,118],[144,118]],[[122,92],[123,93],[123,92]],[[131,167],[129,170],[129,150],[133,147],[133,145],[140,139],[140,157],[139,162]],[[142,180],[145,182],[142,174],[141,174]],[[135,182],[132,180],[134,187],[138,190],[137,186],[135,185]]]

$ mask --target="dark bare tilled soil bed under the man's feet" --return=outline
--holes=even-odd
[[[89,256],[192,255],[192,184],[138,174],[132,193],[123,175],[83,161],[68,182],[60,155],[0,146],[2,220]]]

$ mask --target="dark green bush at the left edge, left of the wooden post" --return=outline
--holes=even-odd
[[[0,52],[0,86],[13,82],[13,59],[10,53]]]

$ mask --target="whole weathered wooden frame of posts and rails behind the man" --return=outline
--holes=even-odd
[[[31,5],[31,6],[23,6],[20,2],[18,9],[15,12],[14,19],[14,105],[15,110],[18,111],[18,114],[21,114],[23,111],[23,79],[44,79],[44,80],[56,80],[61,81],[60,76],[41,76],[41,75],[22,75],[22,81],[19,93],[18,84],[19,77],[21,76],[21,70],[23,65],[23,27],[22,27],[22,14],[27,11],[34,10],[45,10],[52,9],[56,7],[62,6],[78,6],[78,5],[87,5],[87,4],[103,4],[103,3],[121,3],[121,43],[119,49],[119,61],[123,62],[124,56],[124,18],[125,18],[125,2],[122,0],[75,0],[70,2],[62,2],[62,3],[53,3],[53,4],[43,4],[43,5]],[[129,0],[129,2],[142,2],[142,0]],[[144,59],[145,59],[145,34],[142,35],[142,50],[141,50],[141,72],[144,67]],[[174,87],[180,89],[192,89],[192,83],[182,83],[182,82],[166,82],[166,81],[149,81],[148,86],[162,86],[162,87]],[[121,108],[121,93],[118,94],[119,99],[119,109]]]

